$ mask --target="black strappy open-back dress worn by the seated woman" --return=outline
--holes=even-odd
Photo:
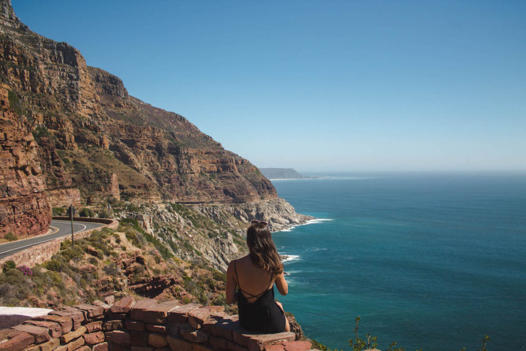
[[[241,326],[251,332],[262,334],[284,332],[285,314],[274,299],[274,284],[261,294],[252,295],[242,290],[241,286],[239,286],[236,261],[234,261],[234,270],[238,286],[237,307],[239,309],[239,323]],[[272,281],[272,275],[270,276],[270,281]],[[256,300],[252,303],[248,302],[245,295],[241,292],[250,295],[249,298],[256,297]]]

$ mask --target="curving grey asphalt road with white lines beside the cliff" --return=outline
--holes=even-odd
[[[84,230],[102,227],[103,225],[104,224],[102,223],[74,221],[73,231],[78,233],[83,232]],[[61,238],[63,236],[71,236],[71,222],[69,220],[52,220],[49,226],[54,230],[51,234],[41,235],[24,240],[17,240],[16,242],[0,245],[0,258],[13,255],[16,252],[22,251],[31,246],[48,242],[49,240]]]

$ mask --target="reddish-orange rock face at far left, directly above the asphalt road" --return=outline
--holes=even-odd
[[[51,221],[37,144],[28,127],[0,86],[0,237],[42,234]]]

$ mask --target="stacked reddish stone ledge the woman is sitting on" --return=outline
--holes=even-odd
[[[0,351],[302,351],[291,332],[252,334],[222,306],[126,296],[80,304],[0,330]]]

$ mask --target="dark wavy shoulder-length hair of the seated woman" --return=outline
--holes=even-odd
[[[259,268],[265,268],[272,274],[283,273],[281,257],[272,241],[268,225],[264,223],[251,224],[247,229],[247,245],[250,260]]]

